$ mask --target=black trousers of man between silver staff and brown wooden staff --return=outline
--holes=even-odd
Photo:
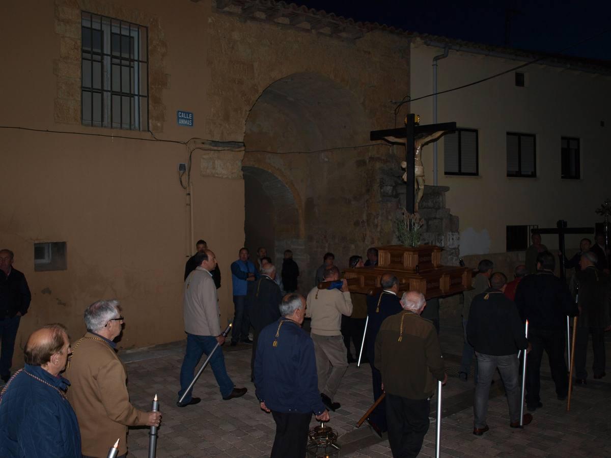
[[[526,404],[536,405],[541,401],[541,359],[547,353],[556,394],[566,396],[569,391],[565,361],[565,329],[529,329],[529,342],[532,344],[526,360]]]

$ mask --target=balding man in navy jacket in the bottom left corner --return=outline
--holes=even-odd
[[[49,324],[34,331],[23,351],[26,365],[2,390],[0,456],[80,458],[81,433],[60,377],[70,354],[65,327]]]

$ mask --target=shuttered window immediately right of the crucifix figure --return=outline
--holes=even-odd
[[[477,131],[457,129],[444,136],[445,175],[477,175],[478,141]]]

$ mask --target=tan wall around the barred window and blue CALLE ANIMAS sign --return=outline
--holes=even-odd
[[[147,141],[153,136],[145,132],[81,125],[81,10],[148,27],[150,129],[158,139],[174,142]],[[31,31],[27,39],[24,29]],[[33,293],[18,346],[35,327],[50,321],[67,324],[73,337],[81,335],[84,308],[111,297],[124,306],[121,346],[183,338],[183,268],[199,238],[207,240],[221,264],[219,299],[225,323],[233,310],[230,263],[244,242],[244,151],[194,147],[207,148],[204,140],[243,141],[249,111],[259,96],[274,81],[295,73],[331,81],[348,94],[349,106],[360,106],[363,132],[355,142],[366,140],[370,129],[392,126],[390,100],[400,98],[409,84],[408,59],[399,64],[389,59],[409,56],[409,43],[396,35],[373,32],[357,42],[337,40],[243,21],[216,12],[211,1],[12,2],[2,5],[0,40],[5,68],[12,69],[0,72],[5,88],[0,126],[42,130],[0,129],[0,193],[5,196],[0,200],[0,245],[15,251],[15,267],[26,274]],[[193,128],[177,126],[178,109],[194,112]],[[346,123],[354,124],[351,118]],[[43,132],[47,130],[63,133]],[[327,130],[319,143],[345,145],[345,137],[341,142],[329,139],[334,133]],[[177,175],[178,162],[188,160],[188,147],[181,142],[192,137],[200,139],[188,145],[193,234],[189,200]],[[364,254],[370,243],[387,243],[376,239],[376,227],[386,228],[386,238],[392,236],[381,213],[386,207],[364,197],[378,186],[370,166],[397,167],[389,151],[378,147],[316,156],[318,167],[304,170],[290,160],[277,162],[274,169],[273,161],[261,156],[250,165],[273,170],[294,193],[304,253],[308,215],[332,222],[338,232],[329,242],[318,242],[319,234],[312,234],[316,257],[331,243],[349,247],[343,253],[347,258],[349,250]],[[312,169],[321,170],[320,175],[312,178]],[[316,199],[328,195],[324,177],[338,194],[368,181],[360,192],[325,200],[319,207]],[[356,217],[349,211],[353,197],[359,199]],[[328,212],[338,205],[342,213],[334,219]],[[352,239],[346,244],[348,237]],[[67,242],[66,271],[34,272],[33,245],[39,241]],[[20,361],[17,353],[15,364]]]

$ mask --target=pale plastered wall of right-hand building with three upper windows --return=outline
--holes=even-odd
[[[411,53],[412,99],[433,92],[433,56],[443,49],[414,42]],[[439,60],[438,90],[446,90],[516,67],[522,62],[450,51]],[[609,76],[546,65],[523,70],[526,87],[514,85],[514,73],[466,89],[439,95],[439,122],[478,129],[479,176],[444,175],[444,140],[439,141],[439,184],[450,186],[447,206],[460,218],[461,254],[505,251],[506,225],[555,227],[565,219],[573,227],[601,220],[595,209],[609,197],[608,149],[611,102]],[[433,98],[412,102],[421,122],[433,122]],[[606,120],[606,127],[600,126]],[[507,178],[507,132],[536,134],[536,178]],[[560,178],[560,137],[580,138],[580,180]],[[424,148],[426,182],[433,183],[433,147]],[[580,235],[568,236],[569,247]],[[557,249],[557,236],[543,236]]]

